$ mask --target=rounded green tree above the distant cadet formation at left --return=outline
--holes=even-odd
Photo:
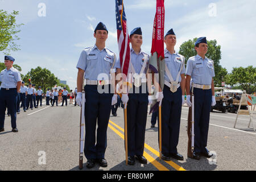
[[[31,81],[29,81],[29,79],[31,79]],[[31,71],[23,77],[23,81],[27,84],[32,82],[32,84],[35,84],[36,88],[41,86],[44,93],[46,93],[48,88],[51,89],[56,84],[59,84],[58,78],[55,77],[51,71],[46,68],[42,69],[41,67],[31,69]]]

